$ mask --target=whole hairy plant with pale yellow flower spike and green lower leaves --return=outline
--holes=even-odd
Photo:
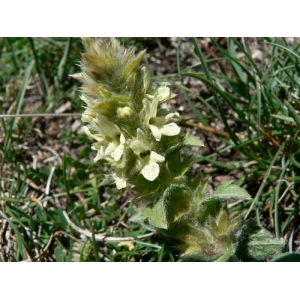
[[[207,180],[194,176],[194,156],[181,150],[203,142],[177,125],[179,114],[166,105],[175,94],[151,84],[145,51],[135,54],[113,38],[83,42],[82,71],[72,75],[83,84],[82,129],[94,140],[95,162],[110,165],[102,184],[136,191],[131,220],[173,237],[183,260],[265,259],[279,251],[266,230],[229,214],[227,200],[250,199],[244,189],[224,182],[210,193]]]

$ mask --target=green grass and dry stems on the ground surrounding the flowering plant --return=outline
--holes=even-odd
[[[139,49],[156,43],[122,41]],[[165,40],[158,41],[160,50],[167,51]],[[209,48],[191,39],[195,62],[188,65],[183,42],[178,39],[176,71],[155,80],[173,83],[184,95],[191,116],[183,124],[209,130],[220,142],[197,163],[209,166],[203,171],[209,176],[239,174],[237,184],[253,200],[232,203],[230,210],[284,238],[284,251],[295,251],[300,44],[265,39],[257,60],[243,39],[227,39],[226,45],[211,39]],[[68,113],[0,119],[0,260],[177,261],[169,241],[138,238],[148,232],[129,221],[130,191],[99,187],[105,162],[93,163],[91,141],[79,132],[79,85],[68,76],[78,71],[81,51],[80,40],[74,38],[0,40],[0,114]],[[195,94],[187,79],[207,86],[209,94]],[[204,108],[206,114],[201,113]],[[212,125],[215,120],[223,129]],[[231,155],[230,160],[222,160],[223,155]],[[70,226],[64,211],[82,232]],[[91,236],[85,236],[86,230]],[[136,238],[110,242],[113,237]]]

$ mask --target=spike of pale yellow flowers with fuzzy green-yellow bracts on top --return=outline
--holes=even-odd
[[[95,162],[106,160],[118,189],[136,174],[154,181],[165,162],[163,136],[175,136],[180,127],[173,122],[177,112],[166,108],[175,96],[166,85],[153,87],[149,70],[141,66],[144,51],[135,55],[116,39],[84,39],[87,53],[82,72],[72,75],[83,83],[85,103],[82,130],[96,142]]]

